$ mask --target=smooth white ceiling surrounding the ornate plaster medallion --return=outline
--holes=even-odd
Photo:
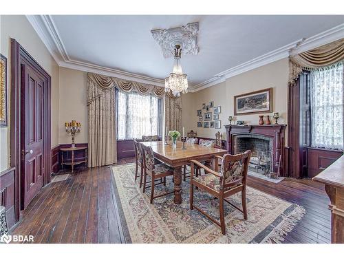
[[[50,18],[71,60],[159,79],[171,72],[173,59],[162,56],[151,30],[198,21],[200,52],[197,56],[182,56],[183,71],[191,85],[344,23],[344,16],[309,15],[54,15]]]

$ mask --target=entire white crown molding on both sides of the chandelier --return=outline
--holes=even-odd
[[[164,79],[133,74],[119,69],[112,69],[69,58],[65,46],[63,45],[63,41],[61,40],[61,36],[58,34],[56,25],[50,15],[27,15],[26,17],[59,66],[85,72],[94,72],[107,76],[115,76],[125,80],[136,80],[140,83],[148,83],[164,87]],[[299,39],[290,44],[279,47],[277,50],[273,50],[272,52],[253,58],[250,61],[241,63],[235,67],[231,67],[230,69],[226,69],[223,72],[215,74],[212,78],[205,80],[203,83],[189,85],[189,92],[197,92],[201,89],[206,89],[207,87],[222,83],[230,77],[248,72],[251,69],[279,61],[290,55],[312,50],[338,39],[344,39],[344,23],[337,25],[330,30],[326,30],[325,32],[310,36],[307,39]]]

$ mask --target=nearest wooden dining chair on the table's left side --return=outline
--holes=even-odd
[[[169,175],[173,175],[173,168],[167,166],[164,163],[155,164],[154,162],[154,153],[150,146],[144,146],[141,144],[142,154],[143,154],[143,167],[144,167],[144,176],[143,176],[143,193],[147,187],[147,175],[151,177],[151,204],[153,203],[153,199],[162,197],[164,195],[168,195],[170,193],[174,193],[174,191],[168,193],[162,193],[160,195],[154,196],[154,187],[157,184],[164,184],[166,186],[166,177]],[[155,184],[155,180],[163,179],[162,182]]]

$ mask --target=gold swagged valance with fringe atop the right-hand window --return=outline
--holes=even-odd
[[[288,84],[295,85],[303,70],[320,69],[344,61],[344,39],[289,57]]]

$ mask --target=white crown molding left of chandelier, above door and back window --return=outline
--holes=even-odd
[[[26,18],[31,23],[32,27],[39,35],[44,45],[52,54],[56,63],[60,67],[66,67],[70,69],[77,69],[84,72],[94,72],[106,76],[114,76],[122,78],[124,80],[133,80],[138,83],[147,83],[160,87],[164,87],[164,80],[159,78],[153,78],[149,76],[143,76],[140,74],[133,74],[131,72],[125,72],[120,69],[113,69],[93,63],[86,63],[82,61],[76,61],[69,57],[61,40],[61,36],[56,29],[56,25],[50,15],[26,15]]]

